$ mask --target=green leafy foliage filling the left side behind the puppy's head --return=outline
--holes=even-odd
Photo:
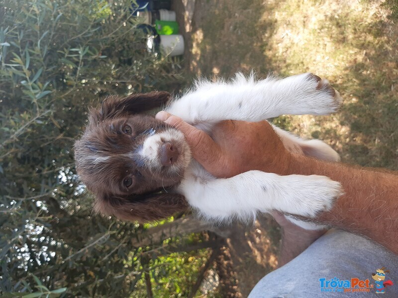
[[[130,244],[143,227],[91,215],[72,147],[107,94],[181,78],[147,52],[131,2],[108,3],[0,0],[2,295],[127,297],[145,269]]]

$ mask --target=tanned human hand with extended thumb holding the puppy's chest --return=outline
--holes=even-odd
[[[186,137],[194,158],[216,177],[232,177],[249,170],[285,174],[291,154],[267,121],[222,121],[211,137],[181,118],[159,112],[156,119],[179,129]]]

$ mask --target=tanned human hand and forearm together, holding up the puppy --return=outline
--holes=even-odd
[[[214,176],[261,170],[281,175],[324,175],[339,181],[345,194],[316,221],[367,236],[398,254],[397,172],[290,153],[266,121],[225,121],[214,127],[210,138],[176,116],[159,116],[185,134],[194,158]]]

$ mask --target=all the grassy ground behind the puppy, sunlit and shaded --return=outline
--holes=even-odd
[[[327,77],[343,96],[331,116],[274,123],[319,138],[344,162],[398,170],[396,0],[174,0],[192,77],[237,71]],[[236,225],[228,246],[243,297],[277,267],[279,227],[269,218]]]

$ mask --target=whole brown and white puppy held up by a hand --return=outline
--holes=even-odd
[[[86,132],[75,144],[75,157],[82,181],[96,196],[97,212],[140,222],[163,219],[190,207],[216,223],[234,218],[250,221],[257,212],[272,210],[315,217],[330,210],[342,193],[338,182],[317,175],[248,171],[215,178],[192,159],[181,132],[142,114],[169,98],[167,92],[112,96],[100,109],[91,110]],[[211,134],[219,121],[324,115],[336,111],[340,100],[327,80],[313,74],[264,80],[237,74],[230,82],[197,82],[167,110]],[[287,147],[330,160],[339,158],[321,141],[276,131]]]

